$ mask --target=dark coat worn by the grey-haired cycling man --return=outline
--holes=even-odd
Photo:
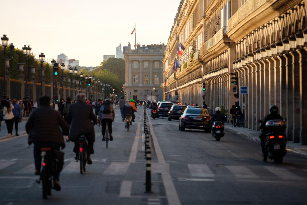
[[[88,141],[95,142],[95,130],[92,121],[97,124],[97,118],[90,104],[83,102],[71,104],[66,119],[70,124],[70,140],[74,142],[78,136],[86,134]]]

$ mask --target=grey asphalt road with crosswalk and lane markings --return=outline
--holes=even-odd
[[[258,142],[227,130],[218,142],[204,131],[182,132],[178,120],[166,117],[147,120],[153,193],[144,194],[142,108],[129,132],[115,111],[109,148],[95,126],[93,164],[85,174],[74,160],[73,143],[66,143],[62,190],[52,190],[47,201],[35,182],[27,136],[1,140],[0,204],[306,204],[307,158],[288,152],[283,164],[265,163]]]

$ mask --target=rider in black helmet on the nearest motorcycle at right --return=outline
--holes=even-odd
[[[262,134],[260,135],[262,153],[265,153],[264,144],[266,142],[266,134],[268,130],[266,129],[266,122],[269,120],[283,120],[282,116],[278,114],[278,107],[276,105],[271,105],[270,114],[264,117],[263,123],[260,125]]]

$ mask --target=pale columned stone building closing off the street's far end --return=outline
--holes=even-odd
[[[126,99],[144,101],[147,100],[147,95],[155,95],[157,100],[162,100],[160,85],[163,81],[164,50],[164,43],[142,47],[139,45],[137,49],[131,49],[128,43],[124,54],[126,82],[122,87],[127,93]]]

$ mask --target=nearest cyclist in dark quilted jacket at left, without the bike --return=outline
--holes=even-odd
[[[40,106],[33,110],[25,124],[25,130],[29,134],[28,144],[34,143],[36,175],[39,175],[41,170],[41,147],[52,147],[55,150],[60,150],[62,147],[63,149],[65,147],[63,135],[69,134],[69,127],[60,112],[50,107],[50,97],[42,96],[39,102]],[[60,171],[53,173],[53,188],[56,191],[61,190],[59,177]]]

